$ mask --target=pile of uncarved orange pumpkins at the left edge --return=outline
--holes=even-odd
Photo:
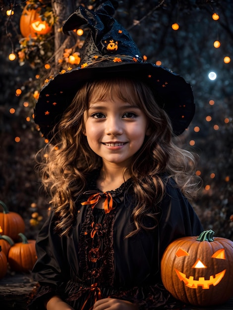
[[[3,212],[0,212],[0,279],[10,270],[29,272],[36,262],[35,240],[27,240],[23,234],[25,223],[16,212],[9,212],[0,201]],[[19,242],[21,238],[22,242]],[[7,263],[8,262],[8,263]]]

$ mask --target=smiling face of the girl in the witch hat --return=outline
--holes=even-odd
[[[90,148],[103,158],[103,165],[129,167],[132,156],[149,134],[144,112],[117,96],[92,99],[84,113],[84,135]]]

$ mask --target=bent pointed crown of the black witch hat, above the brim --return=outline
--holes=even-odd
[[[116,1],[113,1],[114,4]],[[79,6],[63,25],[63,32],[87,24],[90,33],[81,51],[82,63],[91,63],[98,57],[126,55],[142,62],[141,53],[129,33],[112,17],[115,7],[112,1],[99,5],[95,11]]]

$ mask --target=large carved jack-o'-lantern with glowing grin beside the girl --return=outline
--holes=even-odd
[[[233,242],[213,234],[179,238],[164,252],[163,284],[184,303],[211,306],[233,296]]]

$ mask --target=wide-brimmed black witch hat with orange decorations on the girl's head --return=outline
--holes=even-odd
[[[117,1],[107,0],[95,11],[79,6],[63,25],[63,32],[87,24],[90,33],[81,52],[80,66],[62,70],[41,90],[35,106],[35,122],[44,137],[58,123],[84,82],[108,77],[138,78],[160,98],[168,113],[174,135],[180,135],[190,124],[195,104],[190,84],[173,71],[143,61],[129,33],[112,16]]]

